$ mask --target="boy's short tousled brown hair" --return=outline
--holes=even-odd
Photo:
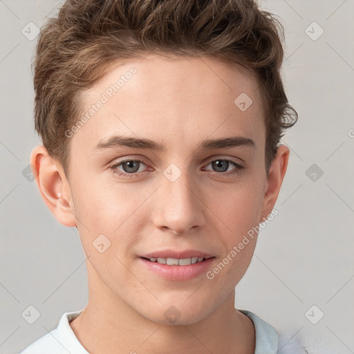
[[[254,73],[263,97],[268,174],[283,130],[297,121],[281,80],[283,26],[254,0],[66,0],[41,28],[35,69],[35,129],[68,176],[79,94],[117,59],[149,51],[214,56]],[[235,97],[236,98],[236,97]]]

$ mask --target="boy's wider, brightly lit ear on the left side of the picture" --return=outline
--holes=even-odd
[[[60,163],[39,145],[30,154],[30,166],[41,198],[50,212],[62,225],[76,226],[71,188]]]

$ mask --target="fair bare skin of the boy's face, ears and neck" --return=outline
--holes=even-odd
[[[44,202],[59,223],[77,226],[88,257],[88,305],[71,328],[90,353],[254,353],[254,326],[234,307],[234,288],[250,264],[257,234],[212,280],[201,274],[167,281],[138,256],[166,248],[201,250],[214,255],[214,268],[272,212],[290,151],[279,146],[266,175],[257,82],[212,57],[149,55],[116,62],[82,93],[82,112],[131,66],[137,73],[71,138],[68,178],[43,146],[31,153]],[[246,111],[234,104],[242,92],[253,101]],[[94,150],[113,133],[149,138],[167,150]],[[236,135],[254,140],[254,149],[197,149],[207,138]],[[109,168],[122,158],[145,165],[124,178]],[[244,169],[226,176],[234,165],[212,164],[223,158]],[[171,163],[181,171],[174,182],[163,174]],[[124,173],[123,167],[116,169]],[[100,234],[111,241],[102,253],[92,245]],[[164,316],[171,306],[180,313],[174,324]]]

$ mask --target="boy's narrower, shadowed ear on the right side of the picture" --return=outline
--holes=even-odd
[[[280,187],[286,174],[286,168],[288,167],[289,154],[290,150],[285,145],[278,147],[277,155],[272,162],[265,183],[260,223],[268,218],[268,215],[272,212],[275,202],[277,201]]]

